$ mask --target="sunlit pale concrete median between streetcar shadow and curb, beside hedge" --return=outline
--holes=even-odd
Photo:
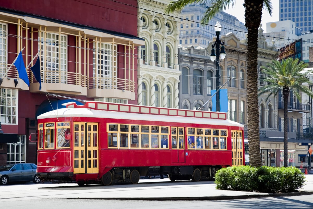
[[[99,186],[88,191],[90,185],[79,187],[80,192],[54,198],[119,199],[119,200],[228,200],[260,197],[313,195],[313,175],[305,175],[306,184],[297,192],[259,193],[217,190],[213,181],[175,181],[169,179],[141,179],[136,185]],[[158,182],[157,184],[154,184]],[[162,183],[163,182],[163,183]],[[144,184],[142,184],[144,183]]]

